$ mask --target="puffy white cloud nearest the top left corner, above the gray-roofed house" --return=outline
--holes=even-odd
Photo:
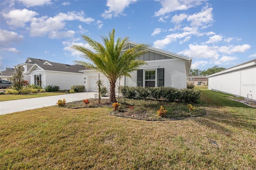
[[[27,9],[23,10],[12,10],[6,14],[3,14],[3,17],[8,25],[14,27],[25,27],[27,22],[30,22],[34,16],[39,15],[37,12],[30,11]]]

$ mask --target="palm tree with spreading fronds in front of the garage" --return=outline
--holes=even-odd
[[[80,45],[73,45],[72,48],[82,52],[82,57],[89,61],[75,61],[75,63],[104,74],[110,83],[110,102],[116,102],[116,80],[122,76],[131,77],[131,72],[138,69],[139,66],[146,64],[145,61],[138,60],[138,57],[147,52],[145,48],[148,45],[139,44],[132,49],[121,52],[124,45],[128,42],[128,37],[124,39],[118,38],[115,42],[115,29],[109,32],[109,37],[101,36],[104,45],[92,40],[86,35],[82,35],[82,37],[94,51]]]

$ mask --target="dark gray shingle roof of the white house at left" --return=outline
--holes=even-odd
[[[78,64],[62,64],[62,63],[54,63],[47,60],[42,59],[34,59],[34,58],[28,58],[31,62],[26,61],[26,63],[29,64],[37,64],[39,67],[41,67],[44,70],[50,70],[50,71],[61,71],[61,72],[76,72],[81,73],[79,70],[86,70],[84,66],[78,65]],[[44,64],[45,62],[48,62],[51,65]]]

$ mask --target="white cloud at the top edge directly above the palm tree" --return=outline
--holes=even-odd
[[[136,2],[137,0],[107,0],[108,10],[105,10],[101,16],[104,19],[112,18],[112,16],[117,17],[119,15],[125,15],[124,9],[130,4]]]

